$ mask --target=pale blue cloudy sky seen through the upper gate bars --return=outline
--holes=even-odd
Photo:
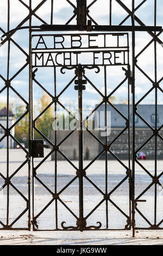
[[[7,31],[7,0],[0,1],[0,31],[1,35],[3,31]],[[15,28],[27,15],[28,9],[24,4],[29,4],[29,0],[10,0],[10,29]],[[41,0],[32,1],[32,9],[34,9]],[[71,2],[76,5],[75,0]],[[87,3],[90,4],[92,1],[88,0]],[[131,0],[122,1],[131,9]],[[142,1],[135,0],[135,6],[139,5]],[[45,22],[50,22],[50,5],[51,0],[47,0],[42,7],[36,11],[36,14],[43,19]],[[163,2],[162,0],[157,1],[157,25],[163,25]],[[135,15],[145,23],[145,25],[153,26],[154,25],[154,0],[147,0],[136,12]],[[97,0],[95,4],[90,8],[91,17],[96,20],[98,25],[108,25],[109,24],[109,0]],[[53,13],[53,23],[55,24],[65,24],[68,19],[73,15],[73,8],[66,0],[54,0],[54,13]],[[128,14],[124,11],[115,0],[112,0],[112,25],[118,25]],[[75,19],[72,20],[71,24],[76,22]],[[33,17],[33,25],[41,25],[42,22]],[[130,25],[130,18],[124,22],[123,25]],[[137,24],[136,24],[137,25]],[[24,23],[23,26],[28,26],[28,22]],[[19,44],[25,52],[28,53],[28,31],[18,31],[13,36],[12,39]],[[151,36],[146,32],[137,32],[136,33],[136,54],[139,53],[143,47],[145,47],[148,42],[151,40]],[[160,39],[163,40],[162,34]],[[129,42],[131,47],[131,36],[129,35]],[[130,48],[131,51],[131,48]],[[158,44],[157,45],[157,63],[158,63],[158,80],[163,76],[162,72],[162,58],[163,57],[163,48]],[[7,77],[7,44],[4,44],[0,47],[0,74],[6,78]],[[23,64],[26,64],[26,55],[19,50],[15,44],[11,42],[11,51],[10,51],[10,74],[11,78],[14,74],[21,68]],[[137,64],[143,69],[147,75],[154,80],[154,44],[151,44],[139,58],[137,58]],[[130,63],[131,63],[131,52],[130,52]],[[41,83],[50,93],[54,94],[54,83],[53,83],[53,69],[52,68],[40,68],[36,73],[36,79]],[[104,93],[104,71],[101,69],[99,74],[95,73],[95,70],[87,70],[86,76],[89,80],[97,86],[97,88]],[[60,74],[60,70],[57,71],[57,93],[66,86],[68,82],[74,77],[74,71],[66,71],[65,74]],[[124,71],[122,67],[112,66],[107,69],[107,89],[108,94],[114,89],[122,80],[124,79]],[[0,88],[4,86],[3,80],[0,78]],[[22,72],[16,76],[11,81],[11,86],[17,90],[17,92],[28,101],[28,66],[22,70]],[[152,87],[152,83],[136,69],[136,88],[135,88],[135,99],[138,101],[141,97],[147,93],[147,91]],[[160,83],[160,87],[163,89],[163,83]],[[34,103],[37,104],[38,100],[43,94],[43,90],[34,83]],[[124,83],[117,92],[114,94],[115,103],[122,103],[127,99],[128,88],[127,83]],[[6,101],[6,92],[0,94],[0,101]],[[77,108],[78,97],[77,92],[74,90],[74,83],[61,95],[60,101],[65,105],[71,108]],[[97,103],[101,101],[101,96],[97,94],[96,90],[92,88],[91,84],[87,83],[86,91],[83,93],[83,103],[85,108],[92,109]],[[13,104],[21,103],[22,101],[18,99],[17,95],[13,92],[10,92],[10,102]],[[150,93],[145,100],[141,103],[154,103],[154,92]],[[158,103],[163,103],[162,93],[158,94]]]

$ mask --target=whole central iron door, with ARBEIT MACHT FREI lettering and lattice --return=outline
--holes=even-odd
[[[102,34],[101,34],[102,35]],[[104,34],[104,36],[106,36],[107,34]],[[66,58],[69,60],[69,64],[65,65],[65,61],[64,61],[64,65],[59,65],[57,60],[56,60],[56,55],[55,56],[55,62],[57,62],[57,65],[54,65],[54,63],[52,62],[52,55],[50,55],[51,57],[46,58],[47,60],[45,61],[43,58],[45,58],[45,56],[43,57],[43,54],[51,54],[47,51],[47,47],[45,46],[45,38],[46,36],[49,36],[50,38],[53,38],[54,36],[58,36],[58,37],[62,37],[63,36],[67,36],[67,35],[33,35],[33,38],[37,38],[36,42],[35,42],[35,47],[33,46],[33,52],[32,52],[32,59],[33,59],[33,81],[39,85],[39,87],[41,87],[43,90],[45,90],[46,93],[48,93],[48,95],[51,97],[51,102],[49,103],[49,105],[43,109],[43,111],[41,113],[39,113],[39,115],[37,115],[37,117],[34,119],[33,121],[33,127],[32,129],[36,130],[37,132],[39,132],[39,134],[42,136],[43,139],[45,139],[46,143],[49,144],[49,147],[51,147],[51,152],[49,152],[49,154],[42,159],[41,162],[39,162],[39,164],[34,164],[34,160],[33,160],[33,202],[35,202],[35,192],[34,192],[34,182],[35,181],[39,181],[39,184],[41,184],[43,187],[46,188],[46,190],[49,192],[49,199],[48,199],[48,203],[45,205],[44,208],[42,208],[39,212],[37,212],[37,214],[35,214],[35,210],[36,207],[34,206],[34,212],[33,212],[33,229],[37,230],[39,229],[39,223],[37,222],[37,219],[43,214],[43,212],[45,212],[47,210],[47,208],[49,208],[49,206],[51,206],[51,204],[55,201],[55,227],[53,227],[53,225],[51,224],[51,222],[49,223],[49,227],[51,227],[50,229],[53,230],[90,230],[90,229],[111,229],[109,227],[108,224],[108,215],[109,215],[109,209],[108,209],[108,202],[111,203],[112,205],[115,206],[115,208],[120,212],[120,215],[124,216],[124,219],[126,221],[124,221],[125,225],[122,229],[130,229],[131,227],[131,215],[130,215],[130,195],[129,195],[129,191],[130,191],[130,184],[131,184],[131,170],[130,170],[130,110],[129,110],[129,90],[130,90],[130,65],[129,65],[129,45],[128,45],[128,34],[122,34],[122,33],[118,33],[118,34],[108,34],[109,36],[117,36],[117,38],[119,39],[119,36],[122,36],[122,38],[124,36],[126,36],[126,46],[120,47],[118,41],[116,41],[117,46],[116,46],[116,50],[110,50],[112,54],[116,54],[116,53],[123,53],[123,57],[124,54],[126,54],[126,57],[123,62],[120,63],[111,63],[111,62],[107,62],[107,64],[104,64],[102,60],[102,64],[95,64],[95,58],[94,58],[94,63],[93,65],[82,65],[82,64],[78,64],[78,65],[72,65],[72,61],[70,58]],[[81,39],[82,35],[76,34],[77,38]],[[85,34],[83,36],[91,36],[90,34]],[[96,34],[94,34],[93,36],[98,36]],[[44,38],[44,39],[43,39]],[[38,47],[38,42],[41,44],[41,48],[37,48]],[[44,46],[44,48],[42,48],[42,44]],[[82,44],[82,43],[81,43]],[[80,45],[81,46],[81,45]],[[76,51],[74,51],[74,48],[76,47],[71,47],[71,51],[72,54],[76,54]],[[122,50],[123,49],[123,50]],[[52,49],[53,50],[53,49]],[[60,50],[60,48],[59,48]],[[85,53],[85,50],[82,52],[82,47],[78,50],[78,54],[82,54]],[[81,51],[79,53],[79,50]],[[43,52],[44,51],[44,52]],[[55,49],[56,51],[56,49]],[[121,52],[122,51],[122,52]],[[95,49],[92,52],[92,50],[87,49],[86,54],[90,54],[92,53],[93,56],[95,57]],[[99,54],[99,50],[97,52]],[[104,53],[108,54],[108,51],[102,51],[103,56]],[[110,53],[110,54],[111,54]],[[53,54],[53,52],[52,52]],[[63,54],[62,51],[61,52],[57,52],[57,54]],[[86,55],[86,56],[87,56]],[[97,58],[97,57],[96,57]],[[106,58],[106,57],[105,57]],[[37,62],[38,60],[38,62]],[[108,60],[108,59],[107,59]],[[78,60],[79,61],[79,60]],[[88,60],[87,60],[88,61]],[[45,64],[45,63],[46,64]],[[47,92],[46,88],[43,87],[42,84],[40,84],[40,82],[38,82],[39,77],[37,76],[37,69],[46,69],[48,67],[47,62],[49,62],[49,67],[51,67],[52,71],[54,72],[54,81],[53,81],[53,87],[54,87],[54,95],[50,94],[49,92]],[[53,66],[54,65],[54,66]],[[112,90],[112,92],[107,93],[107,72],[109,72],[109,67],[110,66],[122,66],[122,72],[124,73],[124,78],[123,80],[120,82],[120,84],[118,84],[117,86],[115,86],[114,90]],[[57,70],[59,72],[57,72]],[[65,74],[66,70],[72,70],[72,72],[74,73],[74,76],[72,78],[72,80],[70,82],[68,82],[68,84],[65,85],[64,89],[61,90],[61,92],[59,94],[57,94],[57,73],[59,74]],[[102,92],[100,92],[100,90],[98,89],[97,85],[95,86],[95,84],[93,84],[93,82],[90,81],[90,79],[87,77],[87,70],[92,70],[92,72],[94,72],[95,74],[99,74],[101,70],[103,70],[104,72],[104,94]],[[96,75],[96,76],[97,76]],[[61,79],[61,77],[59,76],[59,79]],[[113,95],[116,90],[118,90],[120,87],[122,87],[124,85],[124,83],[126,83],[126,87],[128,90],[128,112],[126,113],[126,116],[124,116],[120,111],[118,111],[118,109],[110,102],[110,97],[111,95]],[[83,117],[83,91],[85,90],[85,92],[87,92],[87,83],[91,84],[92,89],[95,89],[95,92],[100,95],[102,97],[102,101],[100,103],[98,103],[98,105],[96,106],[95,109],[93,109],[89,114],[87,114],[87,116],[84,118]],[[66,92],[67,88],[74,88],[74,90],[78,91],[78,95],[76,101],[78,101],[78,118],[75,117],[73,115],[73,113],[71,113],[71,109],[67,109],[64,104],[62,103],[62,101],[60,100],[61,96],[64,95],[64,93]],[[34,88],[32,89],[34,92]],[[114,109],[118,114],[121,115],[121,117],[124,120],[124,123],[126,123],[124,129],[114,138],[112,139],[112,141],[110,143],[108,143],[108,126],[107,123],[109,122],[108,118],[107,118],[107,105],[110,105],[112,107],[112,109]],[[49,140],[47,137],[45,137],[45,135],[43,135],[43,133],[41,131],[39,131],[37,129],[36,126],[36,121],[41,117],[41,115],[43,113],[45,113],[45,111],[47,111],[48,108],[50,108],[52,105],[55,105],[55,112],[58,111],[58,106],[61,106],[63,109],[66,110],[66,112],[68,114],[70,114],[72,116],[72,118],[76,121],[76,127],[74,127],[74,129],[72,131],[70,131],[64,138],[62,138],[61,141],[57,140],[57,135],[58,135],[58,131],[57,129],[55,129],[55,138],[54,138],[54,142],[52,142],[51,140]],[[95,113],[95,111],[97,111],[97,109],[102,106],[105,105],[105,114],[104,114],[104,118],[105,118],[105,126],[106,126],[106,135],[105,135],[105,143],[103,143],[95,134],[93,134],[93,132],[85,125],[86,120],[88,120],[91,115],[93,113]],[[78,130],[78,150],[79,150],[79,160],[78,160],[78,166],[75,166],[73,164],[73,162],[68,159],[68,157],[66,156],[66,154],[64,154],[64,152],[62,151],[62,149],[60,149],[61,145],[66,141],[67,138],[69,138],[74,131]],[[86,130],[88,133],[90,133],[90,135],[92,136],[92,140],[96,139],[96,141],[99,143],[99,145],[102,146],[102,150],[99,154],[97,154],[97,156],[89,163],[87,164],[85,167],[83,165],[83,161],[84,161],[84,156],[83,156],[83,150],[84,150],[84,140],[83,140],[83,132],[84,130]],[[115,141],[124,133],[128,131],[128,166],[126,166],[120,159],[118,159],[118,157],[116,156],[116,154],[114,154],[112,152],[111,147],[114,145]],[[33,138],[35,139],[35,138]],[[33,141],[34,143],[40,143],[40,141]],[[43,142],[42,142],[43,143]],[[76,142],[74,142],[76,144]],[[36,145],[36,144],[35,144]],[[40,144],[37,144],[40,145]],[[41,147],[41,145],[40,145]],[[40,151],[40,147],[35,146],[34,147],[34,156],[37,157],[36,155],[36,150],[38,150],[38,153],[41,154]],[[47,147],[46,145],[43,146],[42,144],[42,149],[43,147]],[[73,148],[70,148],[70,150],[72,151]],[[42,151],[43,152],[43,151]],[[52,154],[55,153],[55,167],[54,167],[54,191],[52,191],[48,184],[46,184],[46,182],[43,182],[40,178],[39,175],[37,175],[37,169],[41,166],[41,164],[45,163],[45,161],[48,159],[49,156],[51,156]],[[118,161],[122,168],[124,168],[124,175],[123,175],[123,179],[118,181],[117,185],[112,188],[111,190],[109,190],[108,188],[108,153],[110,153],[114,159],[116,161]],[[101,190],[100,186],[98,184],[95,184],[95,182],[93,182],[89,176],[86,175],[87,169],[94,163],[96,162],[99,157],[104,154],[105,155],[105,179],[103,180],[104,184],[105,184],[105,189],[104,191]],[[62,155],[64,157],[64,159],[71,164],[71,166],[74,169],[74,178],[72,180],[70,180],[65,186],[63,186],[61,188],[61,190],[58,190],[57,188],[57,183],[58,183],[58,155]],[[43,155],[42,155],[43,157]],[[39,170],[38,170],[38,174],[39,174]],[[78,179],[78,190],[79,190],[79,198],[78,198],[78,204],[79,204],[79,210],[77,212],[77,214],[74,213],[73,210],[70,209],[70,207],[68,207],[68,205],[64,202],[64,199],[62,198],[62,193],[68,188],[70,187],[70,185],[72,185],[74,183],[74,181],[76,181]],[[84,214],[84,210],[86,208],[85,204],[84,204],[84,189],[85,189],[85,185],[84,185],[84,181],[87,180],[90,182],[90,184],[96,188],[97,192],[99,192],[101,194],[101,201],[99,203],[96,203],[96,206],[89,212],[87,212],[87,214]],[[128,191],[127,191],[127,197],[128,197],[128,206],[127,206],[127,212],[122,210],[120,208],[120,206],[118,206],[117,203],[114,202],[114,199],[112,199],[112,194],[114,192],[116,192],[116,190],[125,182],[125,181],[129,181],[129,185],[128,185]],[[41,200],[41,199],[40,199]],[[66,216],[63,217],[63,221],[61,223],[59,223],[58,220],[58,216],[60,216],[61,214],[61,210],[58,208],[58,202],[60,202],[65,209],[67,209],[70,214],[72,216],[74,216],[74,218],[76,219],[76,221],[69,221],[70,225],[66,225]],[[97,209],[99,208],[99,206],[101,206],[103,203],[105,203],[105,223],[101,223],[99,222],[99,220],[95,220],[95,223],[93,223],[92,225],[87,225],[87,219],[95,212],[97,211]],[[65,219],[64,219],[65,218]],[[96,224],[97,222],[97,224]],[[103,221],[104,222],[104,221]],[[118,228],[118,225],[115,229],[120,229]]]

